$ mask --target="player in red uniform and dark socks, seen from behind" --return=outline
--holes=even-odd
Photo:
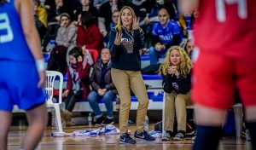
[[[239,90],[256,149],[256,1],[181,0],[195,20],[193,100],[198,124],[194,149],[217,149],[225,111]]]

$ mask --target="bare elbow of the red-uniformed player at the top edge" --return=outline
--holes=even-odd
[[[178,8],[183,14],[191,14],[198,8],[200,0],[178,0]]]

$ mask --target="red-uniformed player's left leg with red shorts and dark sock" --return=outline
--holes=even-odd
[[[194,149],[217,149],[225,110],[232,104],[232,63],[222,55],[200,54],[195,63],[193,100],[197,134]]]

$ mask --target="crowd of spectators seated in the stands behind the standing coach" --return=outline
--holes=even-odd
[[[93,97],[90,100],[90,106],[96,113],[97,123],[106,122],[106,119],[107,122],[113,121],[113,114],[109,111],[107,118],[103,119],[102,113],[96,106],[95,97],[104,98],[103,95],[106,94],[106,99],[108,99],[110,96],[107,96],[110,91],[103,92],[103,89],[108,89],[108,84],[113,85],[112,80],[106,81],[102,78],[105,75],[111,77],[111,74],[107,72],[111,62],[109,60],[107,63],[102,60],[101,54],[102,49],[108,53],[108,49],[111,48],[109,32],[117,26],[119,10],[123,6],[130,6],[135,10],[139,26],[144,32],[144,45],[140,54],[148,55],[149,66],[158,66],[154,67],[154,74],[157,74],[159,70],[160,58],[166,57],[170,47],[180,45],[187,50],[189,56],[191,55],[193,45],[190,42],[189,33],[192,31],[191,22],[197,12],[195,14],[179,14],[177,0],[33,0],[33,2],[35,24],[41,38],[42,51],[49,53],[48,70],[68,74],[69,84],[63,95],[67,97],[68,114],[72,112],[74,102],[78,101],[77,97],[88,99],[87,95],[90,95]],[[50,40],[55,41],[53,49],[48,49]],[[84,55],[83,59],[81,60],[79,57],[76,63],[82,64],[81,61],[84,62],[84,60],[86,64],[88,63],[85,68],[82,66],[82,70],[79,69],[80,65],[74,65],[70,58],[74,49],[76,49],[75,51],[81,50]],[[85,77],[80,77],[80,73],[84,69],[87,69],[86,72],[89,72],[88,69],[93,72],[92,75],[87,73],[86,85],[84,84]],[[98,73],[94,71],[95,69],[104,73]],[[84,84],[79,86],[80,89],[86,90],[84,96],[81,95],[79,89],[74,90],[74,87],[71,86],[75,84],[74,77],[80,77]],[[88,89],[90,85],[91,90]],[[115,89],[114,86],[111,89]],[[102,93],[104,94],[102,95]],[[116,95],[116,92],[112,93],[111,100]],[[105,103],[106,107],[111,109],[107,100]]]

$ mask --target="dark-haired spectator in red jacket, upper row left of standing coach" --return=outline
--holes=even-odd
[[[100,30],[88,11],[84,11],[81,14],[81,26],[78,28],[77,46],[84,51],[88,49],[94,62],[98,61],[100,51],[104,47]]]

